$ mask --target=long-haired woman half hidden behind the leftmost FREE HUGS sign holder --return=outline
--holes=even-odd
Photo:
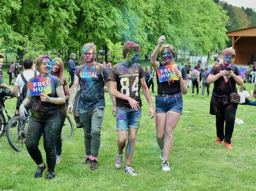
[[[61,58],[57,57],[57,58],[52,59],[51,75],[56,76],[63,82],[65,101],[68,101],[69,93],[70,93],[69,92],[69,83],[68,83],[67,79],[65,78],[63,71],[64,71],[64,65],[63,65],[63,61],[61,60]],[[60,126],[59,132],[57,134],[56,146],[55,146],[56,154],[57,154],[56,163],[59,163],[61,161],[61,150],[62,150],[61,131],[62,131],[62,127],[63,127],[65,119],[66,119],[66,115],[67,115],[66,103],[64,103],[62,105],[58,105],[58,106],[59,106],[59,116],[60,116],[60,120],[61,120],[61,126]]]

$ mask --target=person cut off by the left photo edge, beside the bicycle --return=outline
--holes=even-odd
[[[4,83],[3,71],[1,70],[3,65],[3,55],[0,55],[0,97],[10,96],[15,97],[13,88],[9,87]],[[3,111],[3,104],[0,102],[0,111]]]

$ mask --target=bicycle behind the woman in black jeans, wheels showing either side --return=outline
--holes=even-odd
[[[6,136],[11,147],[18,152],[26,150],[26,135],[29,124],[28,115],[26,119],[21,116],[14,116],[7,123]],[[66,115],[61,137],[62,140],[69,140],[74,136],[74,125],[69,115]]]

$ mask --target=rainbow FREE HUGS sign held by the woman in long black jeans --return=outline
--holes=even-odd
[[[29,80],[29,92],[30,96],[39,96],[39,93],[44,93],[45,95],[52,93],[49,77],[40,79],[31,78]]]

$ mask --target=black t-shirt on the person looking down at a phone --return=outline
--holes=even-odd
[[[239,69],[235,65],[231,65],[229,67],[231,67],[231,70],[234,72],[235,75],[241,76]],[[227,68],[227,66],[224,66],[222,64],[214,65],[212,66],[210,74],[216,75],[217,73],[220,73],[222,70],[226,70]],[[229,85],[229,81],[231,82],[232,88]],[[236,90],[236,82],[231,76],[221,76],[218,80],[214,82],[213,91],[216,94],[229,95],[232,92],[232,89]]]

